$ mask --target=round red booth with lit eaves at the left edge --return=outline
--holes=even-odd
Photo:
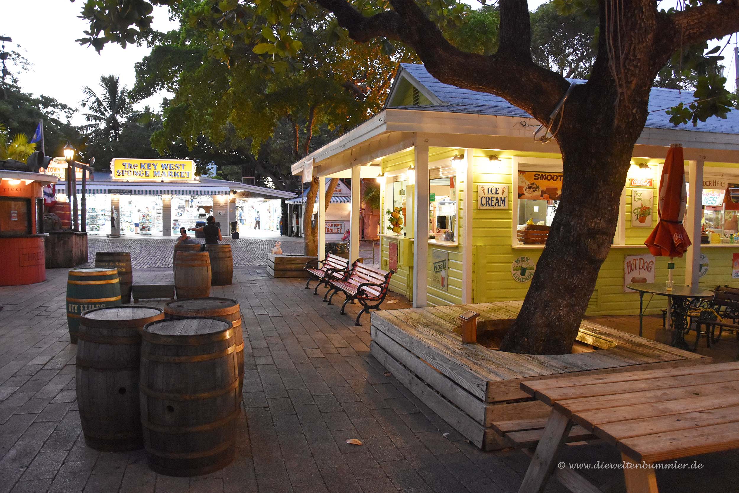
[[[0,170],[0,286],[46,280],[44,186],[50,174]]]

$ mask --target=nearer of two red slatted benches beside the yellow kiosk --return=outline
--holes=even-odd
[[[383,271],[355,261],[351,270],[347,272],[343,279],[329,280],[329,292],[333,291],[333,293],[328,299],[328,304],[331,305],[331,299],[336,293],[344,293],[344,296],[347,296],[347,300],[341,306],[341,313],[344,314],[346,313],[344,308],[347,307],[347,303],[357,300],[361,303],[362,309],[354,324],[361,325],[359,317],[362,316],[362,313],[369,313],[369,310],[379,310],[380,305],[385,301],[390,277],[393,273],[395,271]],[[326,295],[328,295],[328,292]]]

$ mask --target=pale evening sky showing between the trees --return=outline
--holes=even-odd
[[[480,5],[477,0],[464,1],[474,7]],[[528,4],[534,10],[544,1],[529,0]],[[662,0],[660,7],[667,8],[674,3],[675,0]],[[101,75],[119,75],[125,86],[133,86],[134,63],[149,55],[149,48],[129,45],[123,49],[109,44],[98,55],[94,48],[81,46],[75,39],[82,38],[87,27],[86,22],[77,17],[82,5],[83,0],[75,3],[69,0],[0,0],[0,35],[13,38],[12,43],[6,43],[6,49],[18,50],[16,44],[20,44],[19,51],[33,64],[29,72],[18,74],[19,84],[25,92],[49,95],[77,108],[83,98],[82,87],[97,89]],[[165,7],[154,7],[154,29],[166,31],[176,28],[177,24],[168,20]],[[709,44],[723,47],[726,38]],[[723,64],[728,67],[725,75],[729,90],[735,87],[732,47],[733,43],[723,52],[726,57]],[[149,104],[158,110],[164,96],[152,96],[136,107]],[[72,123],[84,123],[81,112],[75,114]],[[33,133],[33,129],[26,129],[26,132]]]

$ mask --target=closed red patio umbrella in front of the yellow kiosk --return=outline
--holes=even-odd
[[[683,256],[690,239],[683,227],[687,191],[683,148],[672,144],[664,159],[659,183],[659,222],[644,242],[655,256]]]

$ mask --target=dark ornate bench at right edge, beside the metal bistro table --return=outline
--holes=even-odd
[[[695,310],[688,313],[688,317],[691,320],[689,330],[695,330],[693,350],[698,348],[701,336],[706,337],[706,346],[721,339],[724,330],[736,333],[739,338],[739,324],[737,323],[739,322],[739,290],[718,286],[713,299],[701,303]],[[717,327],[718,336],[715,333]]]

